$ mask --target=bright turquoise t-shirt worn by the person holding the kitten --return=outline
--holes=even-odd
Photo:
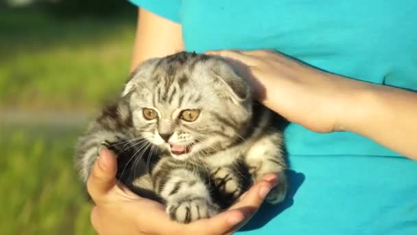
[[[131,1],[180,23],[189,51],[275,49],[335,74],[417,91],[416,0]],[[285,138],[288,197],[263,205],[239,234],[417,234],[415,161],[354,133],[290,124]]]

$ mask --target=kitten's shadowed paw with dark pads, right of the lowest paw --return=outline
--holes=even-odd
[[[239,176],[229,168],[217,168],[211,175],[217,190],[230,199],[237,199],[243,192]]]

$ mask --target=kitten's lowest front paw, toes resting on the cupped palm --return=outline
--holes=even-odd
[[[217,214],[219,210],[219,206],[202,197],[168,202],[166,209],[169,217],[180,223],[209,218]]]

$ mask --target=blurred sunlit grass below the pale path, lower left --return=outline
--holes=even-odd
[[[1,129],[0,234],[94,234],[91,203],[73,168],[80,131]]]

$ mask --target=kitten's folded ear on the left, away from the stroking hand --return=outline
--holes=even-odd
[[[151,58],[138,65],[130,74],[121,93],[121,97],[126,96],[131,91],[134,91],[134,89],[143,87],[143,82],[146,82],[150,78],[159,61],[160,58]]]

